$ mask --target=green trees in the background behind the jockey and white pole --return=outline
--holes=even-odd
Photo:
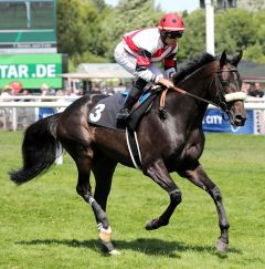
[[[205,51],[204,12],[183,12],[186,33],[179,40],[179,62]],[[59,0],[59,51],[70,55],[73,69],[81,62],[114,62],[114,49],[124,33],[156,27],[161,15],[153,0],[120,0],[115,8],[104,0]],[[215,9],[216,53],[243,49],[245,60],[265,63],[264,21],[264,10]]]

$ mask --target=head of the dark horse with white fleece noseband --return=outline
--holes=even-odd
[[[242,80],[237,71],[237,64],[241,61],[243,52],[241,51],[232,60],[227,59],[223,51],[215,71],[216,95],[214,102],[229,115],[233,126],[243,126],[246,121],[246,111],[244,108],[245,93],[241,91]]]

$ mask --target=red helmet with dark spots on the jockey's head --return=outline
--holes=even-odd
[[[182,19],[174,13],[167,13],[159,21],[158,29],[160,32],[184,31],[184,23]]]

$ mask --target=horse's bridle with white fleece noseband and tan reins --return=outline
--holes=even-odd
[[[237,100],[244,101],[246,99],[246,94],[243,93],[243,92],[225,93],[225,91],[224,91],[226,87],[229,87],[229,82],[226,80],[224,80],[223,77],[221,77],[220,74],[223,73],[223,72],[236,72],[237,79],[240,79],[237,69],[222,70],[222,69],[220,69],[219,65],[216,66],[216,69],[218,70],[214,71],[214,77],[212,79],[212,81],[208,85],[208,87],[211,87],[213,83],[215,84],[216,101],[218,101],[216,103],[212,102],[210,100],[203,99],[201,96],[198,96],[195,94],[192,94],[190,92],[187,92],[186,90],[182,90],[180,87],[172,87],[172,90],[174,90],[174,91],[177,91],[181,94],[188,95],[190,97],[193,97],[195,100],[202,101],[204,103],[211,104],[213,106],[216,106],[218,108],[220,108],[222,112],[224,112],[229,116],[227,104],[232,101],[237,101]],[[167,95],[168,90],[169,89],[166,89],[162,92],[159,111],[165,110],[166,95]],[[223,117],[224,117],[224,115],[223,115]]]

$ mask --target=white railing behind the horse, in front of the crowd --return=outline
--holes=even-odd
[[[73,101],[78,97],[80,96],[40,95],[0,97],[0,126],[3,126],[3,130],[17,131],[19,124],[21,123],[21,115],[19,114],[19,110],[29,108],[28,117],[31,117],[31,120],[26,120],[26,113],[23,115],[24,124],[29,125],[32,122],[39,120],[39,110],[41,107],[53,107],[55,111],[60,111],[67,107]],[[214,106],[209,105],[209,108],[214,108]],[[265,97],[247,97],[245,101],[245,108],[265,111]]]

